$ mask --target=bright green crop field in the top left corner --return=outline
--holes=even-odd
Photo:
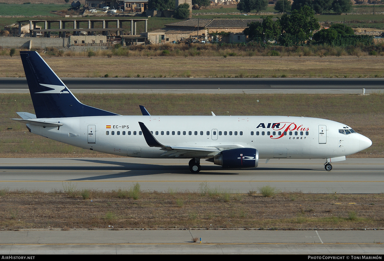
[[[0,4],[0,15],[23,15],[23,16],[57,16],[51,11],[66,10],[70,8],[70,4],[55,5],[55,4]]]

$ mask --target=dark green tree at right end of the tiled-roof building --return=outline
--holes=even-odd
[[[273,21],[272,16],[262,17],[262,19],[261,23],[248,24],[248,28],[244,29],[244,34],[251,40],[260,38],[261,41],[273,41],[277,39],[281,32],[279,21]]]

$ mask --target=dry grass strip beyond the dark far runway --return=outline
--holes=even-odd
[[[44,57],[59,77],[384,77],[384,56]],[[0,77],[25,77],[20,57],[0,56]]]

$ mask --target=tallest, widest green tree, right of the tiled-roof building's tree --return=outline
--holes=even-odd
[[[280,25],[284,34],[288,33],[296,38],[296,44],[310,39],[313,31],[320,28],[318,20],[314,18],[314,11],[309,6],[293,10],[291,15],[282,15]]]

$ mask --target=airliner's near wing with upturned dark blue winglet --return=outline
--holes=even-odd
[[[220,145],[220,147],[200,147],[200,146],[177,146],[177,145],[163,145],[154,137],[151,131],[145,126],[144,123],[139,122],[143,136],[149,147],[159,147],[165,150],[161,156],[177,157],[178,155],[188,157],[213,157],[223,150],[231,148],[243,148],[241,145]]]

